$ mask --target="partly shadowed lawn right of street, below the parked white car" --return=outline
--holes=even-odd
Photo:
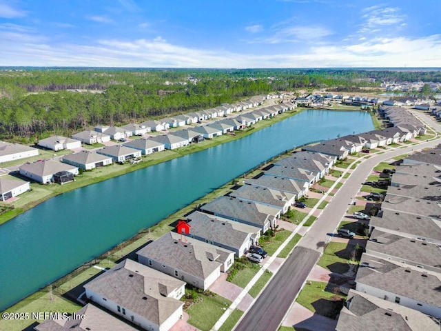
[[[345,228],[347,227],[345,226]],[[348,263],[353,250],[355,250],[355,245],[330,241],[318,261],[318,265],[331,272],[343,274],[349,270]]]

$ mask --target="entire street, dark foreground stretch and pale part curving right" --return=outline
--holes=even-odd
[[[441,130],[441,126],[433,121],[432,117],[421,112],[414,112],[414,114],[417,114],[435,130]],[[314,268],[326,243],[331,239],[340,220],[345,216],[349,204],[373,170],[373,167],[391,157],[407,154],[416,149],[431,148],[437,146],[440,142],[441,138],[425,141],[418,146],[385,151],[384,154],[371,154],[369,159],[362,161],[347,179],[345,185],[331,199],[327,208],[314,222],[314,225],[300,239],[291,256],[278,270],[274,279],[271,280],[265,291],[234,330],[277,330],[291,303],[296,298],[298,290],[307,280],[309,272]]]

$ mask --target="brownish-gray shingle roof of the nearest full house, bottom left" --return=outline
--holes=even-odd
[[[126,259],[86,283],[84,288],[161,325],[183,305],[183,302],[164,295],[183,284],[174,277]]]

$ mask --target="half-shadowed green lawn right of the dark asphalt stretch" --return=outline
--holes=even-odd
[[[300,292],[297,302],[311,312],[335,319],[343,306],[345,297],[335,294],[333,290],[325,282],[309,281]]]

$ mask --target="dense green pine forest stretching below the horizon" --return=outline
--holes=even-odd
[[[300,69],[0,68],[0,139],[32,142],[98,124],[141,122],[276,91],[356,91],[441,72]]]

